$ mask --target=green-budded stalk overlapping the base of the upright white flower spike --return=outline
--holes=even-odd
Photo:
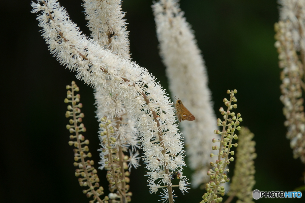
[[[102,117],[100,123],[100,140],[102,149],[100,149],[101,169],[107,170],[107,180],[109,182],[110,193],[109,198],[115,202],[130,202],[132,193],[128,192],[130,182],[129,171],[127,161],[129,156],[124,155],[122,147],[118,141],[120,138],[116,138],[115,125],[117,122],[107,120],[106,117]]]

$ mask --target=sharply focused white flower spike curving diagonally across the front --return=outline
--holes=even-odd
[[[184,163],[183,142],[178,131],[174,108],[155,78],[135,62],[113,55],[97,42],[81,34],[56,0],[32,3],[42,36],[52,54],[77,78],[122,99],[127,110],[136,117],[145,163],[151,173],[150,182],[170,186],[170,174],[181,170]],[[167,187],[171,193],[171,187]]]

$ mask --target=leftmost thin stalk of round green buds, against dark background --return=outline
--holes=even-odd
[[[96,174],[97,170],[93,167],[93,160],[85,160],[87,157],[90,158],[92,155],[89,151],[88,144],[89,140],[85,140],[85,137],[80,134],[81,132],[85,132],[86,128],[84,124],[82,124],[82,118],[84,114],[81,113],[82,104],[79,103],[80,95],[75,92],[79,91],[79,88],[72,81],[71,86],[67,85],[67,98],[64,100],[65,103],[71,103],[68,105],[68,111],[66,111],[66,117],[72,117],[69,120],[66,128],[70,131],[72,135],[70,135],[71,141],[69,141],[69,145],[74,145],[74,166],[78,167],[75,170],[75,176],[80,177],[78,179],[80,186],[89,187],[86,190],[83,190],[83,193],[90,198],[93,195],[93,200],[89,201],[90,203],[94,203],[98,201],[100,203],[108,203],[109,198],[106,196],[104,199],[101,199],[99,196],[104,194],[103,187],[99,186],[99,177]]]

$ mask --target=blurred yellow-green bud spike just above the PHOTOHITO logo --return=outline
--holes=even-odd
[[[234,176],[230,184],[230,197],[225,201],[229,203],[233,197],[238,197],[236,203],[254,203],[253,186],[254,180],[254,161],[257,154],[255,153],[254,134],[248,128],[242,127],[238,136],[238,148],[236,151],[236,164]]]

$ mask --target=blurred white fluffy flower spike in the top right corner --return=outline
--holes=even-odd
[[[295,50],[302,50],[305,54],[305,1],[279,0],[278,3],[282,5],[280,20],[290,20],[292,22],[290,29]]]

